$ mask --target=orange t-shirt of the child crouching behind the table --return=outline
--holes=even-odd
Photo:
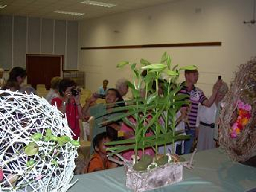
[[[94,172],[95,169],[104,170],[109,169],[111,163],[109,160],[103,162],[102,158],[100,158],[98,153],[94,153],[93,156],[90,158],[88,166],[85,168],[86,173]]]

